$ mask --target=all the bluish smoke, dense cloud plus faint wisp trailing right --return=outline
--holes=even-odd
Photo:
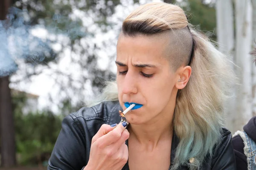
[[[15,73],[20,60],[35,66],[55,59],[52,45],[56,40],[35,36],[32,32],[37,28],[51,35],[64,35],[71,41],[86,36],[81,23],[68,17],[55,14],[47,20],[47,26],[31,26],[28,16],[27,11],[12,7],[7,19],[0,20],[0,77]]]

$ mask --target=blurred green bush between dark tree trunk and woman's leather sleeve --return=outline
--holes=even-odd
[[[23,114],[25,103],[25,94],[13,95],[18,161],[26,165],[42,164],[49,159],[63,117],[50,111]]]

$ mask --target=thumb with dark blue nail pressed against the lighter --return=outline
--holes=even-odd
[[[108,146],[116,141],[118,141],[122,135],[122,132],[126,128],[126,124],[123,122],[120,122],[116,128],[111,130],[109,133],[105,134],[104,136],[101,136],[96,142],[99,142],[99,147],[105,147]]]

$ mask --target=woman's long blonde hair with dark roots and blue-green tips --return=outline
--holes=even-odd
[[[185,63],[192,68],[188,84],[178,91],[176,98],[173,123],[179,144],[172,170],[184,164],[194,170],[200,167],[207,154],[212,155],[213,148],[218,144],[224,124],[223,102],[236,78],[231,60],[189,25],[184,11],[178,6],[145,4],[133,11],[122,26],[125,36],[150,36],[163,32],[181,37],[179,43],[183,48],[177,51],[186,53],[176,58],[176,55],[169,55],[172,61],[179,61],[175,65],[180,67]],[[118,100],[116,87],[115,81],[109,82],[98,102]],[[188,163],[190,158],[194,158],[191,164]]]

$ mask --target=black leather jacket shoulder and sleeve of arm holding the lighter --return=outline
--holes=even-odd
[[[49,159],[49,170],[81,170],[90,157],[93,136],[102,124],[120,122],[119,102],[102,102],[70,113],[62,121],[62,128]]]

